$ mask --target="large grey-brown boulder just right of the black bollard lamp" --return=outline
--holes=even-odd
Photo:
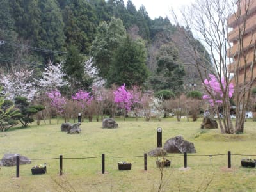
[[[175,136],[164,143],[164,150],[168,153],[195,153],[194,144],[183,139],[182,136]]]

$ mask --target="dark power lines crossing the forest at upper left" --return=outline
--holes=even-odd
[[[19,43],[15,43],[15,42],[8,42],[8,41],[4,41],[4,40],[0,40],[0,45],[10,45],[13,47],[20,47],[20,48],[24,48],[24,49],[29,49],[32,51],[40,51],[40,52],[47,52],[47,53],[52,53],[52,54],[67,54],[67,52],[62,52],[62,51],[53,51],[51,49],[44,49],[44,48],[39,48],[39,47],[31,47],[29,45],[24,45],[24,44],[19,44]]]

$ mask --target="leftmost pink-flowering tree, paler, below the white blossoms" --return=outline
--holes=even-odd
[[[59,90],[52,90],[51,92],[47,92],[46,95],[51,100],[51,106],[56,109],[57,113],[57,124],[58,124],[58,115],[63,116],[64,115],[64,108],[67,100],[65,97],[61,96],[61,93]]]

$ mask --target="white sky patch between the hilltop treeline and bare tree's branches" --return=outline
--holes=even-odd
[[[176,15],[179,15],[179,10],[182,6],[189,5],[193,0],[132,0],[136,10],[143,4],[148,12],[149,17],[154,20],[161,17],[172,17],[171,10],[173,8]],[[125,6],[127,0],[124,0]]]

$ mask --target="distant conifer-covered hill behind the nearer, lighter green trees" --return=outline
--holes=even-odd
[[[193,47],[186,38],[186,28],[171,24],[167,17],[150,19],[143,5],[136,10],[132,1],[125,5],[122,0],[1,0],[1,4],[2,68],[10,70],[13,66],[29,64],[40,74],[48,60],[65,60],[72,45],[84,58],[88,58],[99,32],[99,24],[109,24],[111,18],[115,17],[122,20],[132,39],[141,38],[145,43],[151,79],[156,76],[159,50],[172,42],[179,50],[179,65],[185,69],[185,76],[182,77],[185,90],[190,89],[188,85],[191,83],[200,83],[193,67],[193,55],[189,53]],[[149,78],[148,86],[156,90],[154,83],[156,81]]]

